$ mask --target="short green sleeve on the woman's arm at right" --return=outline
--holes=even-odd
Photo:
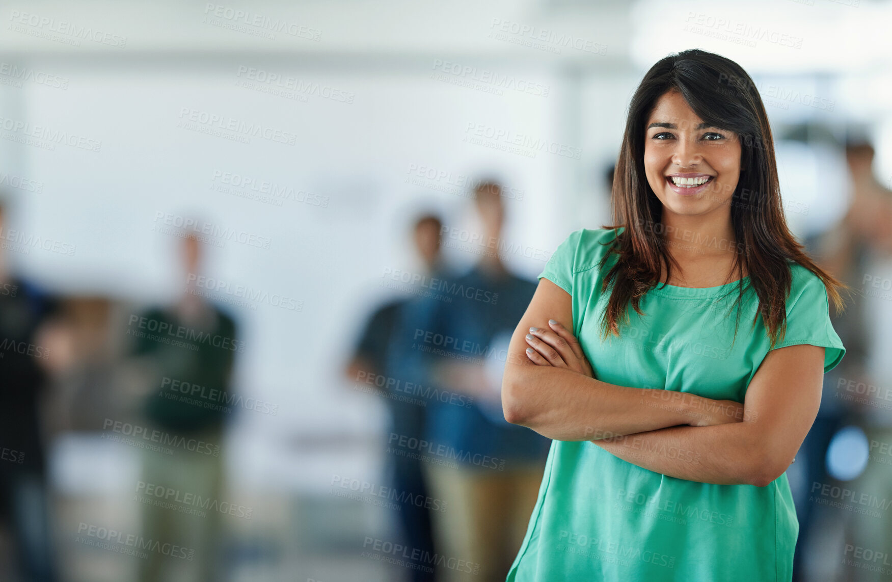
[[[824,373],[836,368],[846,353],[833,324],[827,287],[812,271],[793,269],[793,285],[787,298],[787,332],[775,349],[789,345],[818,345],[824,350]]]

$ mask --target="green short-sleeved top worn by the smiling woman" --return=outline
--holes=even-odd
[[[572,296],[573,328],[595,378],[742,403],[770,345],[761,318],[752,325],[755,292],[741,300],[733,346],[736,281],[657,286],[641,299],[644,317],[630,306],[621,337],[602,343],[609,289],[601,295],[600,286],[615,255],[602,270],[598,263],[607,253],[601,243],[614,237],[611,229],[574,231],[539,275]],[[801,265],[790,269],[787,333],[776,348],[823,346],[827,372],[846,349],[830,324],[826,289]],[[508,581],[789,580],[798,530],[786,474],[765,487],[698,483],[642,469],[589,441],[553,441]]]

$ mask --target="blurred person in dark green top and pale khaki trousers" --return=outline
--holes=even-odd
[[[197,285],[202,279],[201,246],[187,235],[182,241],[182,268],[186,290],[178,303],[153,307],[136,322],[130,318],[128,335],[135,337],[130,356],[145,369],[144,415],[146,432],[153,429],[177,444],[161,444],[173,451],[144,449],[143,483],[149,487],[176,492],[161,501],[211,500],[204,515],[178,511],[178,507],[142,505],[143,536],[161,544],[186,548],[189,557],[180,559],[150,552],[140,561],[140,579],[162,582],[172,578],[172,570],[187,569],[196,582],[219,580],[220,491],[224,420],[235,351],[235,320],[204,296]],[[145,324],[145,327],[143,327]],[[153,333],[153,329],[159,331]],[[165,332],[163,330],[169,330]],[[152,497],[152,495],[145,495]],[[153,497],[153,500],[155,498]],[[182,502],[178,503],[184,504]],[[188,507],[186,503],[186,507]]]

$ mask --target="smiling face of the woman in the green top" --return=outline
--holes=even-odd
[[[706,125],[678,91],[657,100],[645,125],[644,171],[663,212],[731,213],[740,176],[740,141]]]

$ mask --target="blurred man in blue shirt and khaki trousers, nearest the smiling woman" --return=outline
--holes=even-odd
[[[404,313],[395,353],[440,397],[427,406],[425,473],[434,541],[447,580],[496,580],[508,573],[524,538],[542,478],[549,439],[509,424],[501,411],[501,375],[512,330],[535,284],[512,275],[500,258],[505,208],[499,184],[475,187],[483,224],[481,259],[450,281],[450,301],[419,298]],[[442,229],[445,232],[446,229]],[[409,451],[406,451],[409,453]],[[433,453],[433,454],[431,454]],[[442,462],[441,462],[442,461]]]

